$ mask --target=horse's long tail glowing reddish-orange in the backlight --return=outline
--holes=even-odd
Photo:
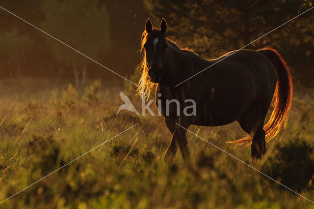
[[[268,58],[277,71],[277,84],[272,100],[274,109],[269,121],[263,127],[265,131],[265,140],[266,142],[269,142],[287,123],[288,112],[292,101],[293,86],[287,63],[275,49],[264,48],[258,50],[258,52]],[[231,143],[239,145],[252,143],[252,137],[246,136],[243,139],[235,140]]]

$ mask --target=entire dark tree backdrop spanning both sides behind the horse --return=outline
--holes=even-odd
[[[145,21],[205,58],[250,43],[313,6],[313,0],[0,0],[0,5],[121,75],[140,62]],[[0,9],[0,76],[115,75]],[[276,48],[294,78],[314,75],[314,9],[247,49]]]

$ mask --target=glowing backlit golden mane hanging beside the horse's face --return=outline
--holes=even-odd
[[[157,28],[153,28],[153,30],[158,30]],[[138,87],[137,87],[137,95],[140,95],[141,98],[147,98],[149,97],[150,93],[153,90],[157,89],[158,84],[152,83],[150,80],[150,77],[148,75],[148,67],[147,67],[147,62],[146,62],[146,52],[145,52],[145,48],[144,48],[144,44],[146,43],[147,39],[148,39],[148,33],[146,32],[146,30],[144,30],[144,32],[142,33],[142,41],[141,41],[141,49],[139,50],[141,55],[142,55],[142,60],[139,63],[139,65],[137,65],[137,70],[141,71],[141,77],[137,83]],[[170,44],[170,46],[174,49],[177,50],[181,50],[172,40],[170,39],[166,39],[168,45]],[[184,49],[187,50],[187,49]]]

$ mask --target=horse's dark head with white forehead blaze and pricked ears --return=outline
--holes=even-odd
[[[150,19],[146,21],[145,30],[148,33],[144,44],[148,75],[151,82],[158,83],[161,80],[163,65],[166,60],[166,20],[162,18],[160,30],[153,29]]]

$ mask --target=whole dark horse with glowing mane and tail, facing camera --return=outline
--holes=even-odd
[[[156,104],[161,100],[161,115],[172,133],[164,154],[165,163],[173,160],[179,148],[184,161],[189,161],[186,139],[189,125],[221,126],[234,121],[247,135],[229,143],[251,145],[251,159],[260,159],[266,142],[287,123],[293,86],[286,61],[272,48],[236,50],[207,60],[179,48],[166,37],[166,31],[165,19],[159,29],[153,27],[150,19],[146,21],[137,88],[144,97],[155,90]],[[180,115],[174,103],[166,114],[166,100],[171,99],[179,101]],[[195,101],[196,114],[182,114],[186,99]],[[264,125],[271,104],[273,112]]]

